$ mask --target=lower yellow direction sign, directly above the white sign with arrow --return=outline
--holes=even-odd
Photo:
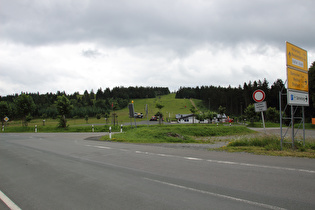
[[[308,92],[308,73],[287,68],[288,89]]]

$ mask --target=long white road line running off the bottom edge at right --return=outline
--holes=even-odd
[[[208,191],[204,191],[204,190],[198,190],[198,189],[195,189],[195,188],[185,187],[185,186],[182,186],[182,185],[172,184],[172,183],[169,183],[169,182],[163,182],[163,181],[159,181],[159,180],[155,180],[155,179],[149,179],[149,178],[144,178],[144,179],[152,181],[152,182],[156,182],[156,183],[172,186],[172,187],[181,188],[181,189],[184,189],[184,190],[190,190],[190,191],[203,193],[203,194],[207,194],[207,195],[211,195],[211,196],[215,196],[215,197],[219,197],[219,198],[225,198],[225,199],[238,201],[238,202],[242,202],[242,203],[246,203],[246,204],[250,204],[250,205],[254,205],[254,206],[259,206],[259,207],[263,207],[263,208],[267,208],[267,209],[286,210],[286,209],[278,207],[278,206],[272,206],[272,205],[268,205],[268,204],[264,204],[264,203],[258,203],[258,202],[254,202],[254,201],[249,201],[249,200],[236,198],[236,197],[232,197],[232,196],[228,196],[228,195],[222,195],[222,194],[208,192]]]

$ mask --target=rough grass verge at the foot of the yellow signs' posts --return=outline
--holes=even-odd
[[[266,135],[252,138],[241,138],[231,141],[227,146],[211,149],[227,152],[248,152],[257,155],[292,156],[315,158],[315,142],[295,142],[295,148],[291,144],[283,144],[281,150],[280,138]]]

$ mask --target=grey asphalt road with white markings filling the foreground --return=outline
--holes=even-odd
[[[21,209],[315,209],[313,159],[100,135],[0,134],[0,191]]]

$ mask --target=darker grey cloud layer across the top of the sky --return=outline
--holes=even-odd
[[[288,39],[304,44],[315,32],[313,1],[29,2],[5,4],[1,36],[31,45],[92,40],[117,47],[157,45],[181,52],[202,43],[279,45]],[[10,14],[7,9],[18,12]],[[312,43],[308,45],[314,47]]]

